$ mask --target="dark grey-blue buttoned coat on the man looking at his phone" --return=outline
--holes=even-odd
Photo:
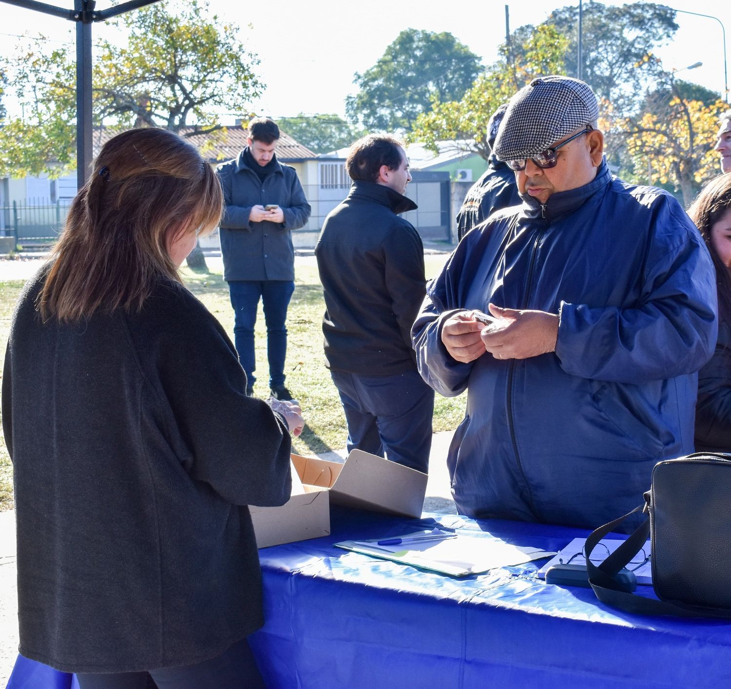
[[[244,162],[241,151],[238,158],[220,164],[216,172],[225,203],[221,218],[224,280],[294,280],[295,249],[290,230],[304,227],[311,212],[295,169],[277,162],[262,183]],[[249,221],[253,206],[267,204],[276,204],[284,211],[284,223]]]

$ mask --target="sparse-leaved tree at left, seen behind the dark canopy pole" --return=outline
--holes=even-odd
[[[259,96],[258,58],[238,28],[208,11],[205,1],[153,4],[118,23],[126,45],[103,40],[93,73],[94,126],[163,126],[173,132],[219,129],[217,111],[243,112]],[[75,167],[75,52],[36,42],[6,69],[23,118],[0,129],[0,175],[52,176]]]

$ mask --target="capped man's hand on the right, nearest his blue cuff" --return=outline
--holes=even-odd
[[[529,359],[556,351],[558,314],[545,311],[515,311],[491,304],[498,321],[485,327],[480,338],[496,359]]]

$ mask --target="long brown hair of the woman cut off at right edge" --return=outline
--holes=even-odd
[[[731,320],[731,275],[711,243],[711,228],[731,208],[731,173],[719,175],[702,189],[688,209],[688,215],[700,229],[713,266],[716,267],[716,289],[719,293],[719,315]]]

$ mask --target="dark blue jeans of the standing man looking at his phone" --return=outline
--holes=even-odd
[[[287,307],[295,291],[295,283],[288,280],[232,280],[229,294],[234,311],[234,343],[238,360],[246,372],[249,387],[254,386],[257,368],[254,355],[254,325],[257,322],[259,300],[264,304],[267,324],[267,357],[269,360],[269,387],[284,385],[284,359],[287,357]]]

